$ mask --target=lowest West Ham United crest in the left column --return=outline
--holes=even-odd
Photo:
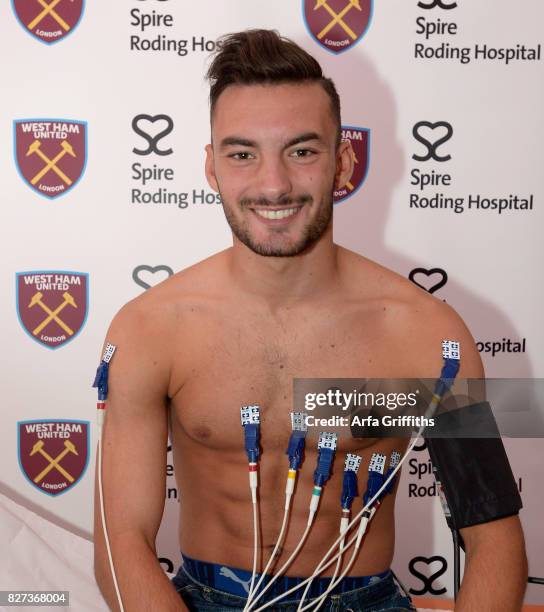
[[[19,465],[42,493],[60,495],[77,484],[89,463],[89,421],[19,421]]]

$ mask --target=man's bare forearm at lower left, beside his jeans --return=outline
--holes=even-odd
[[[187,610],[162,570],[154,551],[141,536],[127,534],[112,542],[117,583],[125,612]],[[96,555],[96,581],[110,609],[120,610],[105,550]]]

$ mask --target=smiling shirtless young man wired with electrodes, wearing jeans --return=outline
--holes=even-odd
[[[436,378],[443,339],[461,343],[460,377],[483,376],[474,341],[449,306],[333,243],[332,193],[349,180],[353,162],[350,144],[339,138],[334,86],[317,62],[273,32],[245,32],[226,39],[209,76],[206,176],[221,194],[233,246],[129,302],[107,334],[117,352],[104,433],[104,496],[127,612],[228,608],[210,603],[215,591],[183,570],[177,593],[157,561],[169,423],[181,495],[180,550],[194,560],[251,570],[240,407],[260,405],[262,570],[283,515],[293,378]],[[364,490],[371,453],[389,456],[406,445],[399,439],[339,440],[336,474],[289,576],[310,575],[337,537],[345,452],[364,456]],[[315,459],[315,447],[307,446],[276,568],[304,531]],[[350,576],[390,567],[393,505],[394,496],[387,496]],[[519,610],[526,559],[518,517],[461,533],[466,566],[456,610]],[[98,512],[95,573],[117,610]],[[333,609],[414,609],[390,577],[377,584],[356,597],[336,597]],[[221,601],[233,609],[243,608],[243,599],[225,597]],[[376,607],[372,597],[380,599]]]

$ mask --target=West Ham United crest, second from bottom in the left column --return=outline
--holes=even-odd
[[[73,340],[87,320],[88,277],[59,270],[18,272],[17,314],[27,334],[50,349]]]

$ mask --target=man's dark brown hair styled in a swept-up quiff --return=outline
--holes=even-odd
[[[220,38],[206,77],[212,117],[219,96],[229,85],[319,83],[330,98],[337,145],[340,143],[340,97],[333,81],[323,76],[317,60],[275,30],[246,30]]]

